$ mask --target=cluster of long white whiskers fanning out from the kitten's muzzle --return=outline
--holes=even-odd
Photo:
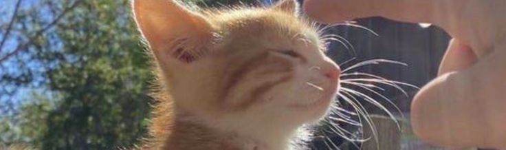
[[[346,24],[349,25],[349,24]],[[348,45],[349,43],[346,43],[345,41],[342,41],[342,36],[338,35],[327,35],[325,36],[325,39],[327,40],[335,40],[340,42],[342,45]],[[346,46],[345,46],[346,47]],[[355,58],[351,58],[351,60],[345,61],[341,65],[344,65],[345,63],[349,63],[353,61]],[[404,83],[400,81],[391,81],[388,80],[382,76],[377,76],[374,74],[364,73],[364,72],[353,72],[350,73],[352,69],[357,69],[359,67],[363,67],[365,65],[376,65],[380,63],[392,63],[397,65],[404,65],[407,66],[406,63],[401,63],[399,61],[390,61],[385,59],[373,59],[369,61],[362,61],[360,63],[356,63],[354,65],[351,65],[350,67],[347,67],[346,69],[342,70],[342,74],[340,76],[340,83],[343,85],[351,85],[358,87],[360,89],[364,89],[366,93],[359,92],[355,89],[350,89],[348,87],[341,87],[340,91],[338,92],[338,96],[342,98],[342,101],[344,103],[347,103],[351,106],[351,109],[344,109],[342,107],[336,107],[333,106],[333,109],[331,109],[331,114],[334,116],[327,117],[327,125],[329,126],[329,130],[331,130],[333,133],[336,133],[336,135],[341,136],[345,140],[349,141],[366,141],[370,140],[371,138],[374,138],[376,143],[379,141],[378,138],[378,131],[377,127],[375,126],[375,123],[373,122],[369,111],[362,105],[362,100],[365,100],[366,103],[370,103],[371,105],[374,105],[375,107],[378,107],[382,111],[385,111],[385,113],[396,123],[397,128],[400,130],[401,126],[399,124],[399,120],[393,115],[391,111],[389,111],[382,103],[379,103],[377,100],[375,100],[373,97],[369,96],[372,94],[372,96],[379,96],[381,99],[386,100],[387,103],[390,105],[393,105],[395,109],[401,114],[401,117],[404,118],[404,114],[402,113],[401,109],[393,103],[393,101],[388,98],[387,96],[380,94],[379,91],[385,91],[386,88],[382,85],[387,85],[389,87],[394,87],[395,89],[398,89],[400,92],[402,92],[404,95],[408,96],[407,92],[401,88],[401,86],[407,86],[407,87],[413,87],[415,89],[418,89],[417,86],[411,85],[409,83]],[[354,78],[358,77],[358,78]],[[347,129],[344,129],[343,127],[340,127],[339,125],[341,123],[344,123],[343,125],[351,125],[354,127],[359,127],[360,129],[364,129],[364,125],[368,125],[370,127],[370,131],[372,131],[370,137],[362,137],[360,139],[356,139],[357,135],[354,133],[351,133]],[[363,134],[363,132],[362,132]]]

